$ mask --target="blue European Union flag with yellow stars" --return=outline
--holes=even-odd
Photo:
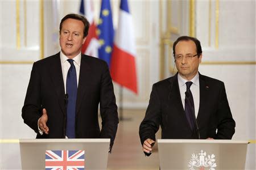
[[[101,1],[101,13],[98,21],[97,34],[101,45],[98,49],[98,57],[104,59],[109,65],[114,43],[114,28],[109,0]]]

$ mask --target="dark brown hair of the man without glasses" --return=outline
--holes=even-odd
[[[61,31],[63,22],[66,19],[69,19],[69,18],[81,20],[81,22],[84,23],[84,37],[86,37],[88,35],[88,30],[89,30],[89,27],[90,27],[90,23],[88,22],[88,20],[84,16],[79,15],[79,14],[68,14],[68,15],[64,16],[64,18],[61,19],[61,22],[60,22],[60,31]]]

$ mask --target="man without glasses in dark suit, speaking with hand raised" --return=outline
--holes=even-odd
[[[22,117],[36,138],[110,138],[113,146],[118,114],[112,78],[105,61],[81,54],[88,29],[83,16],[66,15],[61,51],[32,67]]]

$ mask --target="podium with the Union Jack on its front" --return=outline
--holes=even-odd
[[[19,146],[22,169],[47,169],[65,161],[65,168],[81,163],[77,168],[105,170],[110,139],[19,139]]]

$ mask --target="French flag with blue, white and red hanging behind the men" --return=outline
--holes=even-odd
[[[110,63],[110,73],[115,82],[138,94],[134,40],[132,18],[129,12],[128,2],[127,0],[121,0],[118,29],[115,32]]]

